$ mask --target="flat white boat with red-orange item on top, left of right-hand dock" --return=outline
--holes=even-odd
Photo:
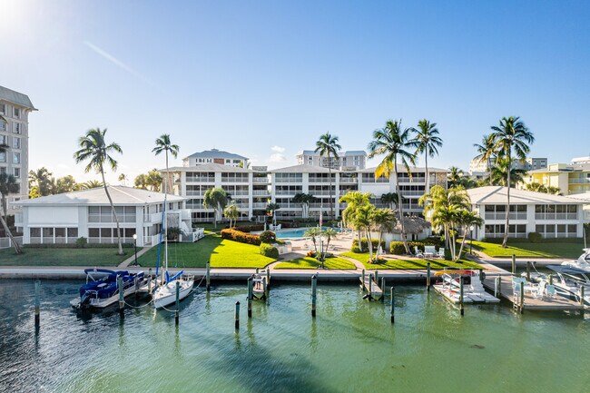
[[[452,303],[460,301],[460,278],[463,277],[463,302],[464,303],[497,303],[500,300],[487,293],[484,285],[479,280],[478,270],[441,270],[435,273],[440,280],[433,286],[434,289]]]

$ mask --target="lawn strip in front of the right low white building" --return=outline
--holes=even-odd
[[[468,244],[466,244],[468,247]],[[576,259],[582,253],[584,245],[578,243],[530,243],[513,242],[508,240],[508,247],[502,248],[501,244],[487,243],[484,241],[474,241],[473,248],[481,251],[490,257],[509,258],[512,254],[521,258],[566,258]]]

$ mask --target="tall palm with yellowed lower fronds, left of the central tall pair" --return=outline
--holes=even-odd
[[[416,141],[409,139],[410,129],[401,130],[401,121],[388,120],[385,127],[373,132],[373,141],[369,142],[369,158],[376,155],[385,154],[383,161],[379,163],[375,169],[375,177],[380,176],[389,177],[391,172],[394,174],[394,181],[396,182],[396,192],[402,198],[399,206],[399,217],[402,218],[401,223],[401,240],[404,243],[406,252],[409,253],[408,241],[406,239],[406,229],[404,227],[404,211],[403,211],[403,195],[399,192],[398,182],[398,158],[401,159],[402,165],[409,171],[409,163],[416,164],[416,154],[409,152],[408,148],[417,147]]]

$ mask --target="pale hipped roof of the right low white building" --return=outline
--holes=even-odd
[[[467,190],[472,204],[504,204],[506,203],[506,187],[487,186]],[[552,195],[543,192],[532,192],[526,190],[510,189],[511,204],[578,204],[582,201],[575,201],[571,198]]]

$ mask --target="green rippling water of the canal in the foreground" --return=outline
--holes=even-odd
[[[91,316],[69,308],[78,283],[44,281],[34,334],[32,281],[0,281],[0,391],[588,392],[590,334],[579,314],[457,309],[396,287],[396,323],[356,286],[281,285],[247,319],[246,286],[198,290],[180,326],[152,309]],[[241,329],[233,309],[241,301]],[[142,303],[138,303],[142,304]]]

